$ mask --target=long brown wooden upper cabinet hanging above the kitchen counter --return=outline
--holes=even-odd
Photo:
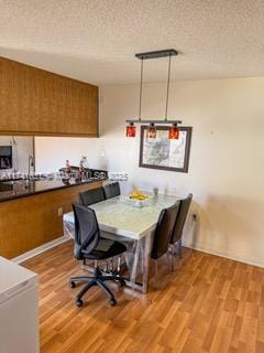
[[[98,136],[98,87],[0,57],[0,135]]]

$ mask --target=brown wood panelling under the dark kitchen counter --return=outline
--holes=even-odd
[[[63,236],[58,210],[72,211],[80,192],[101,186],[102,181],[98,180],[1,201],[0,256],[13,258]]]

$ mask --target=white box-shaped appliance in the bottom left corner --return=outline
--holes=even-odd
[[[37,353],[37,275],[0,257],[0,352]]]

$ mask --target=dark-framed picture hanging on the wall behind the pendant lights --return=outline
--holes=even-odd
[[[141,126],[141,168],[188,173],[191,127],[179,127],[179,138],[168,139],[169,126],[156,126],[156,138],[147,138],[148,126]]]

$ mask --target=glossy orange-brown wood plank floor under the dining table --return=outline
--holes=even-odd
[[[74,304],[81,274],[66,243],[25,267],[40,275],[41,352],[264,352],[264,269],[184,249],[174,274],[162,261],[147,295],[118,289],[109,307],[95,288]]]

